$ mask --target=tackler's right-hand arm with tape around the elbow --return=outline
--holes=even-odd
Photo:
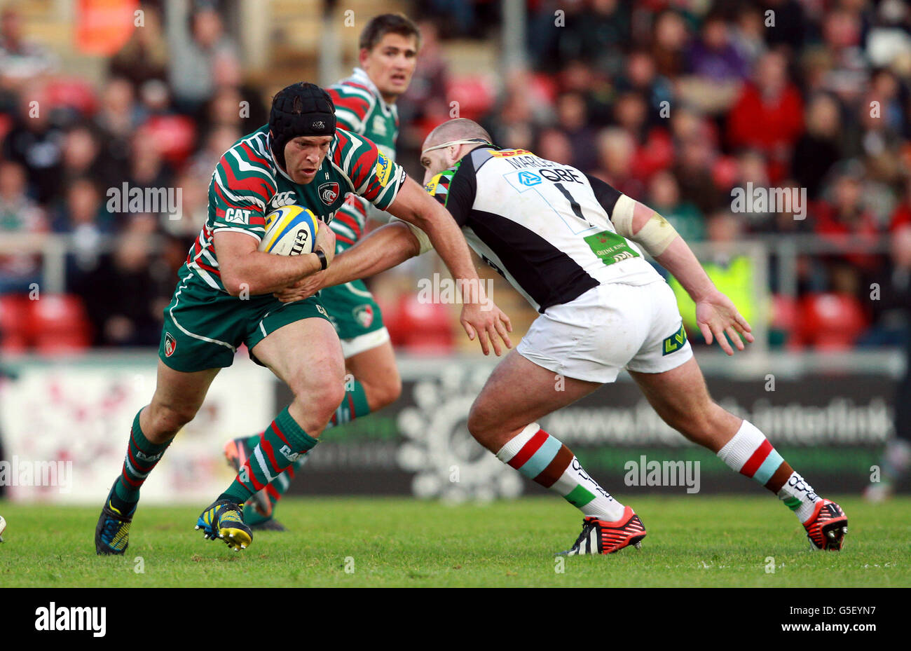
[[[753,341],[752,329],[747,320],[737,311],[732,301],[715,287],[692,249],[666,219],[645,204],[623,196],[615,207],[615,215],[621,223],[619,212],[624,209],[623,204],[627,201],[635,204],[631,210],[630,225],[626,227],[630,230],[630,239],[641,244],[664,269],[680,280],[683,289],[687,290],[696,303],[696,323],[705,341],[711,344],[713,340],[718,340],[722,350],[732,355],[734,351],[724,336],[727,334],[737,350],[742,351],[740,335],[746,341]],[[616,219],[614,223],[617,224]],[[623,227],[618,228],[618,232],[621,228]]]

